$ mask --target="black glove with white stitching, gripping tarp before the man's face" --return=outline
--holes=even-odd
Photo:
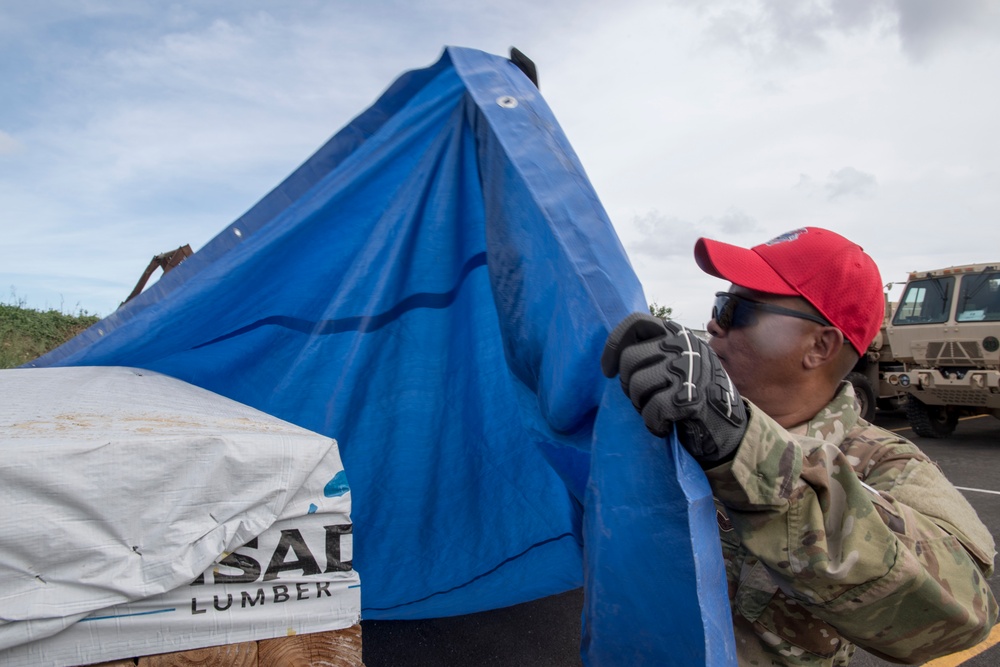
[[[608,336],[601,356],[606,377],[621,375],[622,390],[646,428],[677,438],[700,462],[722,461],[747,429],[747,410],[719,357],[690,330],[633,313]]]

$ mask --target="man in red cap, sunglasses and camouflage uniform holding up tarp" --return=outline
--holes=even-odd
[[[637,313],[601,361],[706,471],[740,664],[847,665],[855,645],[920,663],[983,640],[993,538],[843,381],[881,327],[875,263],[814,227],[751,249],[700,239],[695,258],[732,283],[711,342]]]

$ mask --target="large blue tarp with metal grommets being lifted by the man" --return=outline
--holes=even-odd
[[[734,664],[704,475],[600,372],[645,308],[538,90],[448,48],[32,365],[148,368],[336,438],[364,618],[582,584],[587,664]]]

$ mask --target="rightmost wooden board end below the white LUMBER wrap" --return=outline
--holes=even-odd
[[[258,667],[364,667],[361,625],[258,642]]]

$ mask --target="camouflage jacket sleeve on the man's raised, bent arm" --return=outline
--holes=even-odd
[[[992,537],[918,448],[874,427],[864,433],[879,438],[848,442],[838,442],[843,429],[793,435],[751,411],[735,458],[706,474],[744,546],[787,596],[899,662],[989,634]]]

